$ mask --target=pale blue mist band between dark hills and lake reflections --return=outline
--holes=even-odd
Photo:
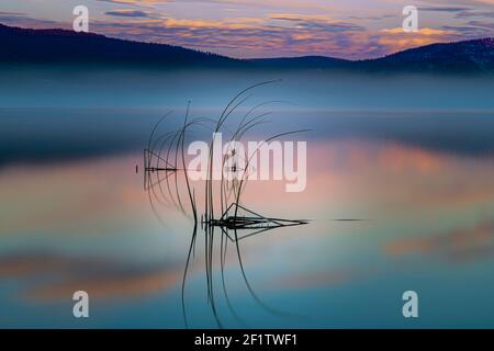
[[[156,70],[137,68],[0,68],[1,106],[218,109],[261,81],[268,99],[307,110],[492,110],[491,76],[358,75],[333,70]],[[291,107],[289,110],[292,110]]]

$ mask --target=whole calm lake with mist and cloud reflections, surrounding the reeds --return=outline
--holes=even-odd
[[[252,298],[231,246],[225,281],[239,318],[215,257],[222,324],[494,327],[494,80],[40,68],[1,77],[1,327],[184,327],[193,222],[161,205],[160,223],[135,166],[168,110],[165,132],[182,123],[189,100],[193,115],[217,116],[239,90],[278,78],[252,103],[285,102],[251,136],[310,128],[290,137],[307,141],[307,186],[251,182],[243,202],[311,223],[242,240],[240,250],[257,296],[290,316]],[[214,328],[201,229],[197,240],[187,316],[190,327]],[[72,316],[78,290],[90,295],[88,319]],[[408,290],[417,319],[402,315]]]

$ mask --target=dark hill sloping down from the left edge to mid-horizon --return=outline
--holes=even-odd
[[[0,24],[0,61],[109,63],[229,66],[237,60],[180,46],[110,38],[66,30],[27,30]]]

